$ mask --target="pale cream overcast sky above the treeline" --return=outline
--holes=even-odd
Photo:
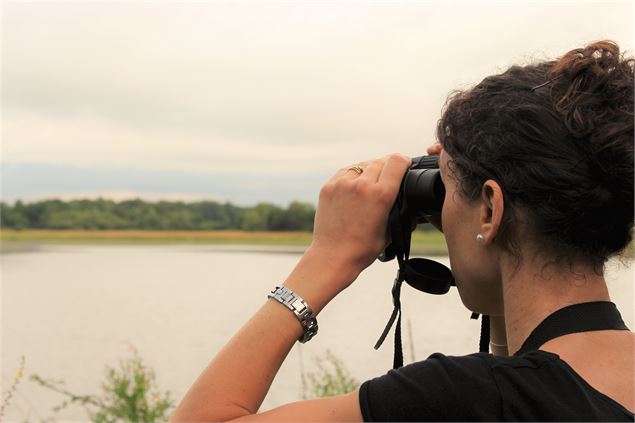
[[[446,96],[613,39],[632,2],[3,2],[2,198],[315,202]]]

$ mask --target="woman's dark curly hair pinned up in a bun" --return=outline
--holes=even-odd
[[[603,266],[633,233],[633,58],[599,41],[512,66],[450,95],[437,126],[460,194],[497,181],[497,242],[520,257],[519,223],[555,261]]]

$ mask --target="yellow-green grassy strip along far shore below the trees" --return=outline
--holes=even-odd
[[[14,250],[23,244],[209,244],[306,247],[310,232],[248,231],[93,231],[93,230],[2,230],[2,249]],[[446,254],[439,232],[415,232],[412,253]]]

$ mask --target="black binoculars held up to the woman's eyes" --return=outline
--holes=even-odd
[[[409,235],[418,224],[429,222],[430,219],[440,220],[444,199],[445,187],[439,175],[439,156],[414,157],[390,212],[388,227],[392,241],[380,254],[379,260],[395,258],[397,237],[403,237],[406,233]]]

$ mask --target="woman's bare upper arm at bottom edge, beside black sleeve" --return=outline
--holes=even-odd
[[[263,413],[244,416],[236,422],[361,422],[359,390],[350,394],[299,401]]]

